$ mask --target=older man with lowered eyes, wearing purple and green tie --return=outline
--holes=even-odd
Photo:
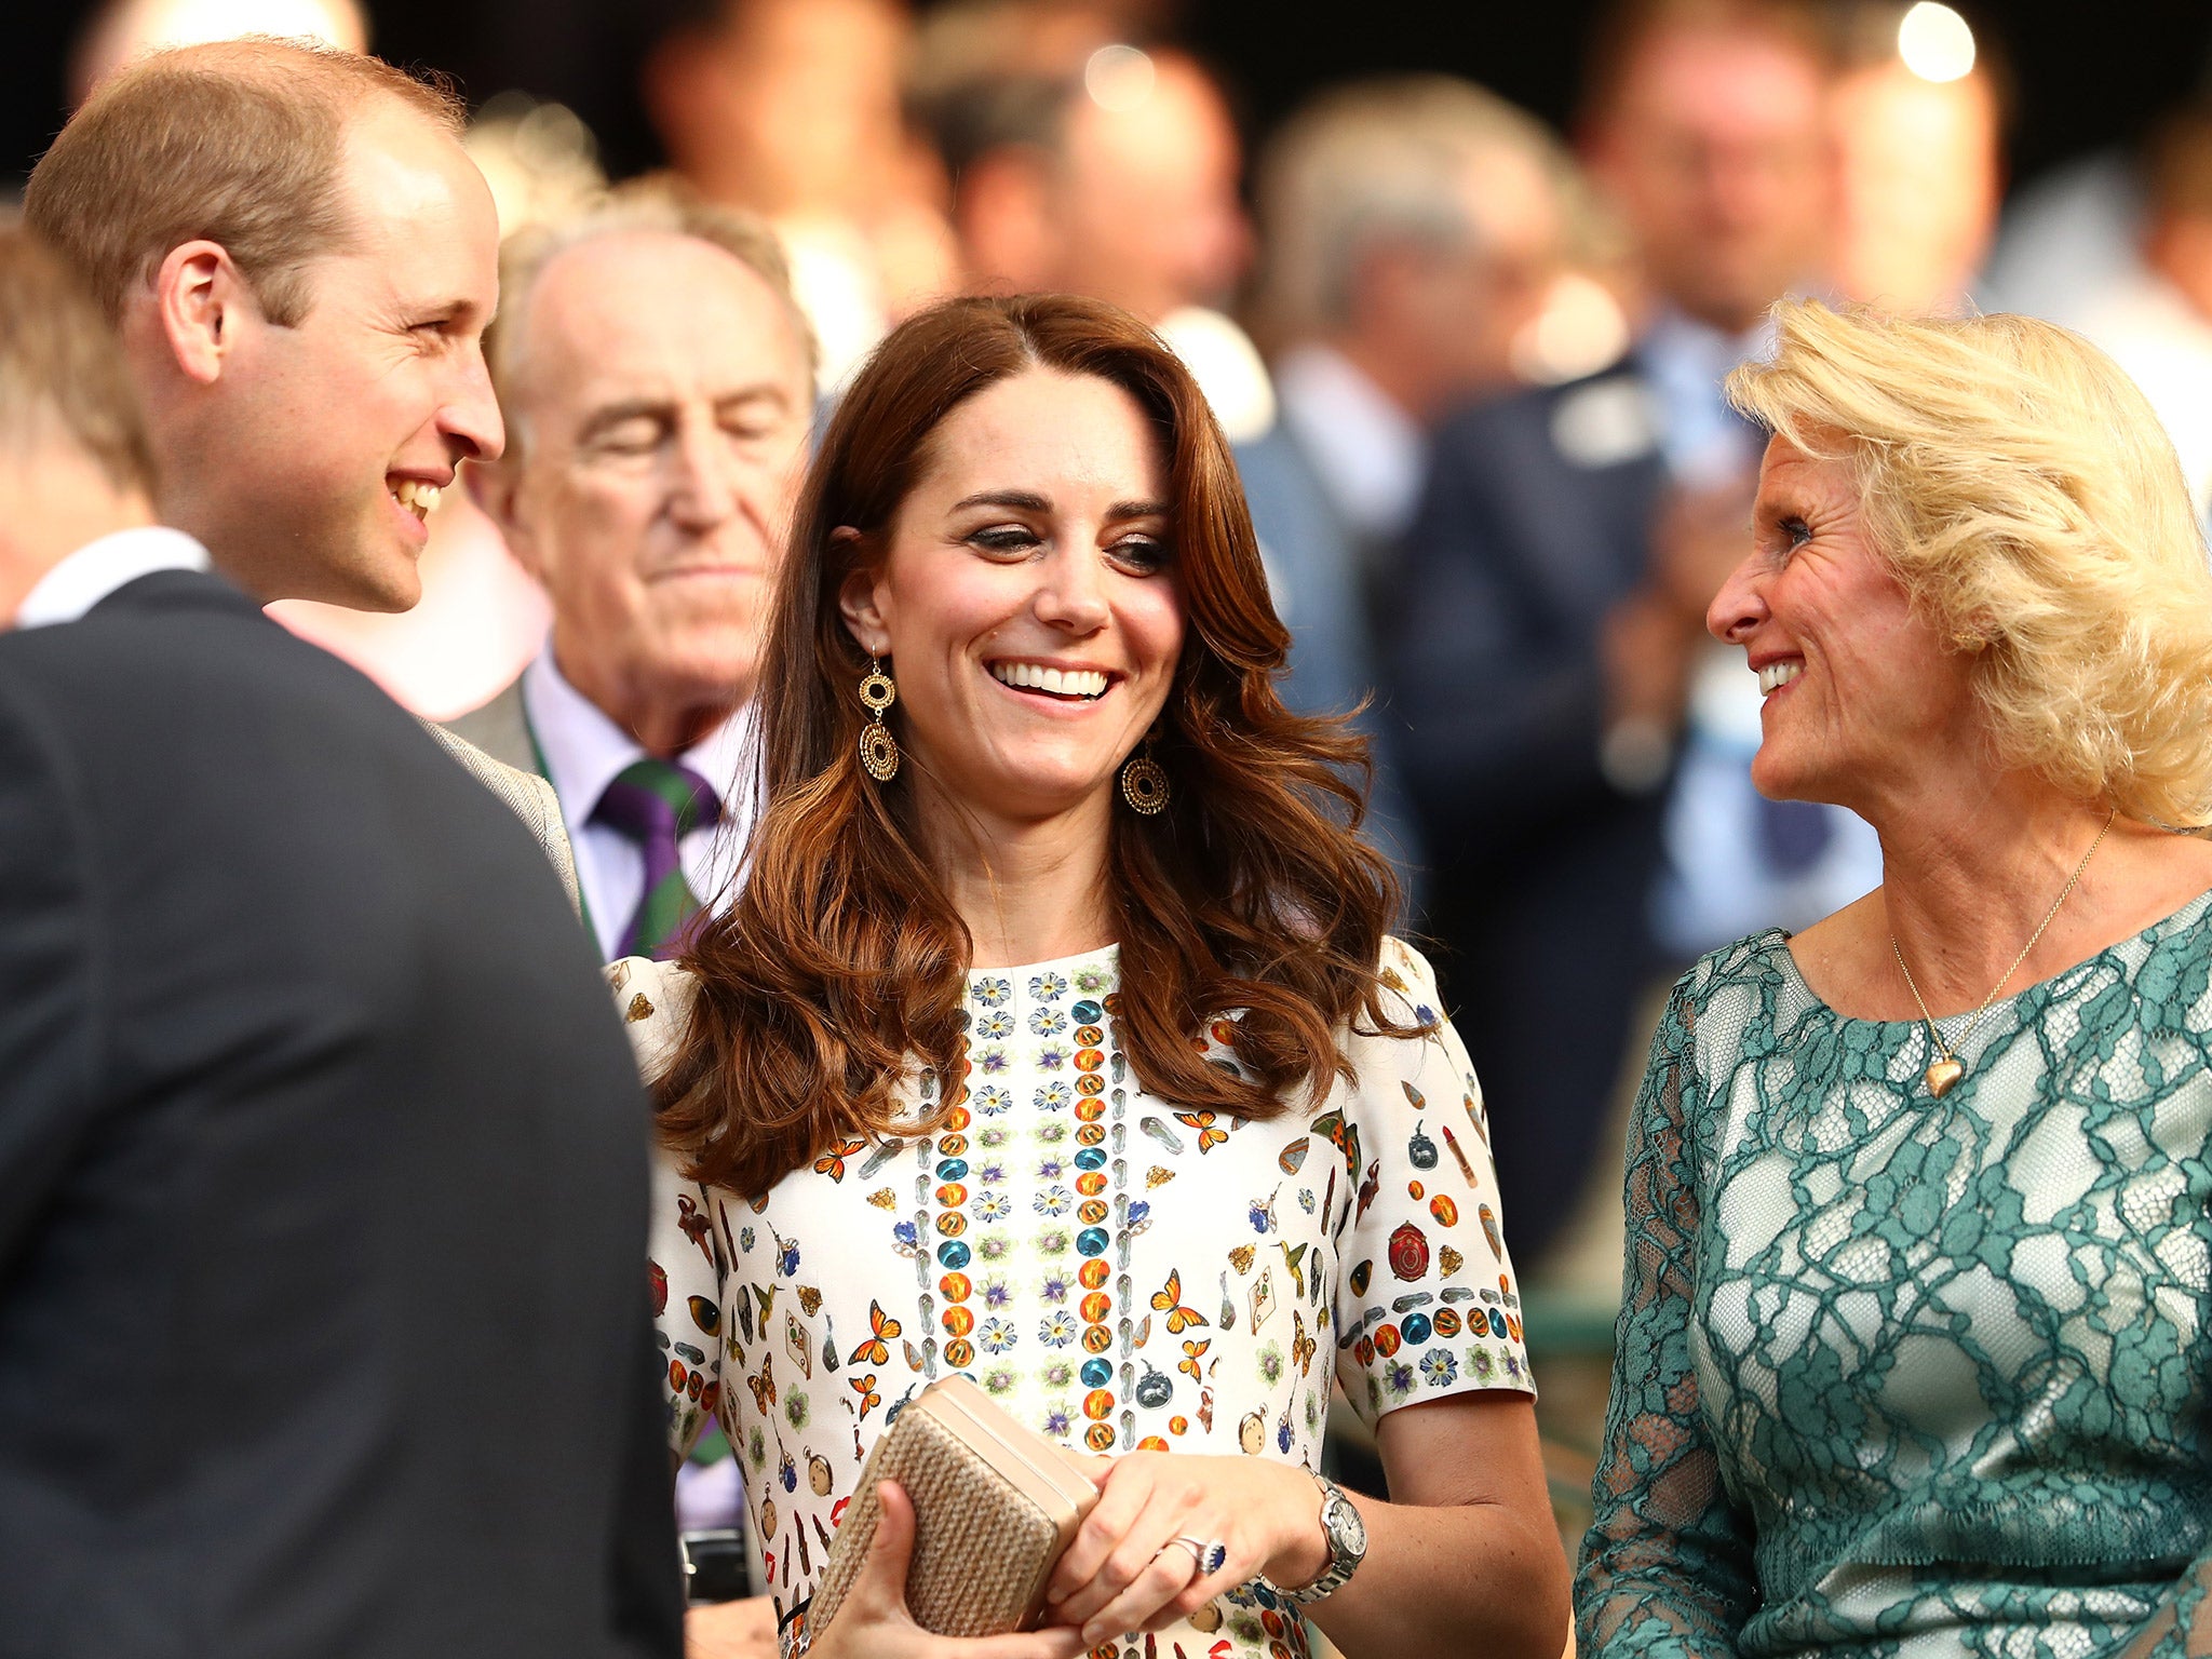
[[[509,243],[504,296],[509,449],[471,478],[553,628],[453,730],[551,781],[602,953],[670,953],[743,856],[812,336],[776,237],[661,181]]]

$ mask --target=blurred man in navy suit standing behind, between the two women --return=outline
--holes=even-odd
[[[1759,803],[1730,748],[1745,717],[1756,748],[1756,681],[1703,653],[1761,447],[1721,380],[1823,252],[1820,40],[1787,0],[1626,0],[1595,42],[1584,148],[1644,327],[1615,369],[1442,425],[1385,653],[1524,1265],[1608,1168],[1652,975],[1856,898],[1871,847],[1834,810]]]

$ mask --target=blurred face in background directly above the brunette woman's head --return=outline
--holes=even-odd
[[[1113,301],[1148,323],[1221,305],[1252,257],[1241,148],[1214,84],[1159,55],[1135,108],[1077,97],[1046,184],[1051,263],[1037,288]]]

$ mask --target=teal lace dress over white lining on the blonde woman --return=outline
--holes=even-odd
[[[2212,1652],[2212,894],[1962,1057],[1778,931],[1674,989],[1584,1659]]]

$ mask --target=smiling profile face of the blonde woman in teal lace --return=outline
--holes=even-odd
[[[1851,469],[1774,438],[1752,531],[1705,626],[1761,675],[1759,792],[1863,805],[1882,779],[1918,776],[1929,754],[1971,752],[1971,657],[1913,613],[1867,533]]]

